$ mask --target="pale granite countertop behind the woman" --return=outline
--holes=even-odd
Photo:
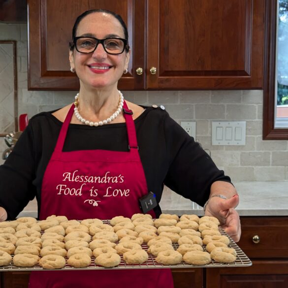
[[[240,203],[236,210],[240,216],[288,216],[288,181],[255,181],[234,183]],[[164,188],[160,207],[163,213],[203,215],[196,203]],[[19,217],[37,217],[37,203],[32,200]]]

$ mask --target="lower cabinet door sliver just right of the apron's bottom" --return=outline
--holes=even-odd
[[[171,269],[174,288],[202,288],[202,268],[175,268]]]

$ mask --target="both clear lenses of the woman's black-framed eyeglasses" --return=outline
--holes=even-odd
[[[79,38],[76,41],[76,48],[79,52],[91,53],[95,50],[98,43],[100,42],[94,38]],[[124,42],[121,39],[107,38],[102,43],[107,53],[120,54],[124,51]]]

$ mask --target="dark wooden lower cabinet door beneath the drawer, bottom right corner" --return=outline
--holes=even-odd
[[[250,267],[206,269],[206,288],[288,288],[288,260],[252,262]]]

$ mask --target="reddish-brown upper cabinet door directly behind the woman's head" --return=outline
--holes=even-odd
[[[128,26],[131,56],[128,73],[119,89],[144,89],[145,0],[28,0],[29,90],[78,90],[79,80],[70,72],[68,43],[77,16],[89,9],[108,9],[120,14]]]

